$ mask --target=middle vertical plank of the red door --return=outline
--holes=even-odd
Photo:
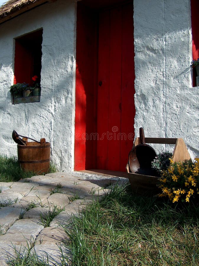
[[[110,10],[110,83],[109,83],[109,132],[108,169],[119,170],[121,123],[121,61],[122,61],[122,9]]]

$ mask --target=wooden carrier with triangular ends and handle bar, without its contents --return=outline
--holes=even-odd
[[[172,155],[174,162],[191,160],[190,154],[182,138],[145,138],[145,142],[155,144],[174,144],[175,147]],[[140,138],[137,137],[134,141],[133,147],[136,147],[139,144]],[[128,179],[133,192],[138,194],[158,194],[160,192],[160,189],[157,187],[158,177],[131,173],[128,164],[126,170],[128,172]]]

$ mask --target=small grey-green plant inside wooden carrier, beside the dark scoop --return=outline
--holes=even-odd
[[[151,162],[152,168],[157,172],[157,175],[160,176],[163,170],[167,170],[170,165],[169,158],[172,158],[172,153],[168,151],[159,153],[156,158]]]

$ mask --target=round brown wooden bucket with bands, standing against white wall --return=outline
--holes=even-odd
[[[26,146],[17,145],[18,160],[22,169],[40,173],[47,173],[50,168],[50,142],[45,139],[37,142],[28,142],[25,140]]]

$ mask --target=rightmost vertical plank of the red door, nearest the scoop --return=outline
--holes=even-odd
[[[125,171],[128,153],[134,139],[134,38],[133,38],[133,4],[123,6],[122,31],[122,113],[121,113],[121,148],[120,171]]]

